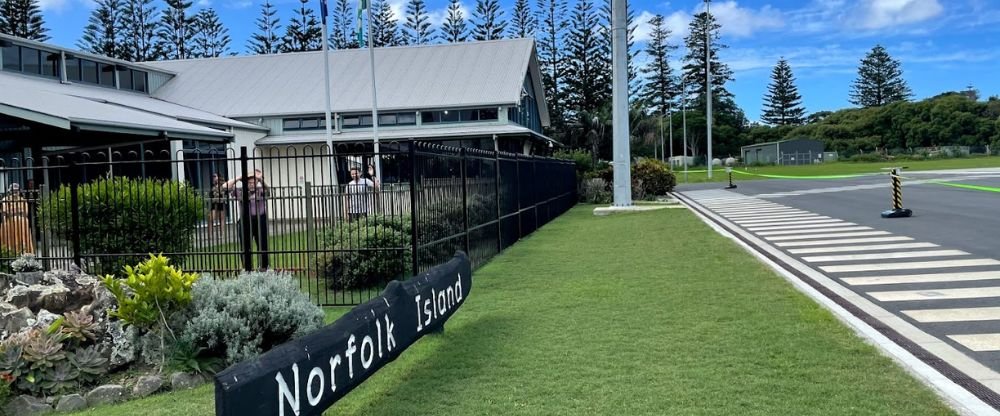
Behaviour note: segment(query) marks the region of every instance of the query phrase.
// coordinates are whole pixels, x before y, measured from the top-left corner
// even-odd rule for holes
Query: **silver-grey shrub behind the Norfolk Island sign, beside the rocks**
[[[195,284],[192,318],[181,339],[227,364],[307,334],[323,324],[323,310],[288,274],[252,272],[235,279],[203,277]]]

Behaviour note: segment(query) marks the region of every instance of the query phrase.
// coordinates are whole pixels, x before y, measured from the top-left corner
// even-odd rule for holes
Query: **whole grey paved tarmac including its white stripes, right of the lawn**
[[[1000,188],[1000,169],[904,176],[903,205],[914,216],[902,219],[879,216],[891,204],[886,175],[678,191],[887,311],[886,321],[912,325],[918,331],[903,331],[911,341],[1000,393],[1000,193],[933,182]]]

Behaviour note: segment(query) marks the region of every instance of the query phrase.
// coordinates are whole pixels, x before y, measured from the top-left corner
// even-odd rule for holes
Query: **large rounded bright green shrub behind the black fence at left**
[[[72,238],[72,188],[63,186],[41,203],[39,220],[64,239]],[[190,186],[158,179],[117,177],[78,187],[80,250],[95,256],[88,265],[96,275],[115,273],[146,253],[184,253],[204,215],[202,197]],[[181,259],[174,254],[174,259]]]

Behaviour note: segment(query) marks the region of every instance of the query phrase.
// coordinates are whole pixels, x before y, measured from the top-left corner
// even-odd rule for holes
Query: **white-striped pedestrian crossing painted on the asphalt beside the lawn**
[[[684,196],[887,310],[905,305],[901,317],[933,332],[944,331],[947,340],[968,351],[994,353],[998,355],[992,359],[1000,359],[1000,260],[762,199],[791,194],[707,190]],[[973,322],[974,331],[962,329]]]

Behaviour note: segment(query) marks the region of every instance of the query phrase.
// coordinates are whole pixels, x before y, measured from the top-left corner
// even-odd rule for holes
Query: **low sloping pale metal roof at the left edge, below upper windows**
[[[177,138],[233,137],[232,133],[128,107],[35,88],[22,77],[0,75],[0,114],[61,129],[143,135],[166,133]],[[58,85],[58,84],[57,84]]]

